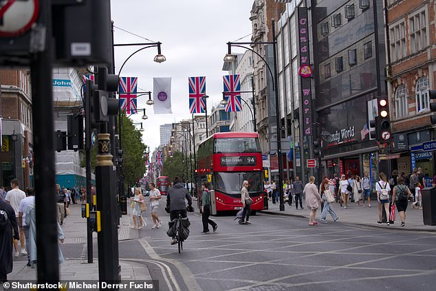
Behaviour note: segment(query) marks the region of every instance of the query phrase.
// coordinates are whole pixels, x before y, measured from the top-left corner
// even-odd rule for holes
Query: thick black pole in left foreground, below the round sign
[[[41,5],[45,47],[30,58],[35,159],[36,249],[38,283],[58,283],[58,222],[54,170],[54,122],[52,89],[52,1]],[[12,248],[12,246],[11,246]]]

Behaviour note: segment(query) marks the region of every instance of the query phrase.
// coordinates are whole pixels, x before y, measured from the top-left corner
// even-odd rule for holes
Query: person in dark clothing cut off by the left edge
[[[0,200],[0,283],[8,281],[12,272],[12,241],[19,239],[14,208],[6,200]]]

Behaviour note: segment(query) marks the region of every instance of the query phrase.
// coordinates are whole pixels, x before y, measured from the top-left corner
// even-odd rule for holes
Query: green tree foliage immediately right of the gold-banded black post
[[[142,133],[135,128],[133,122],[124,113],[122,114],[121,147],[124,151],[122,155],[124,185],[132,185],[142,178],[146,171],[144,158],[142,158],[146,145],[142,143]]]

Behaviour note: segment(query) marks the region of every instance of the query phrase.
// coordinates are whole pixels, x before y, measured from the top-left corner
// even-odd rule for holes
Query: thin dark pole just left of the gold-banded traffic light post
[[[91,208],[93,197],[91,195],[91,86],[94,81],[86,81],[85,91],[85,156],[86,156],[86,202]],[[88,263],[93,262],[92,230],[89,218],[87,219],[87,252]]]

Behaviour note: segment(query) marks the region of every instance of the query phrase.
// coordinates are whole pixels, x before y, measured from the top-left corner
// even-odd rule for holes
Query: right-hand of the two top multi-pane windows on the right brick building
[[[427,47],[426,12],[421,11],[408,19],[409,40],[411,53],[419,52]]]

